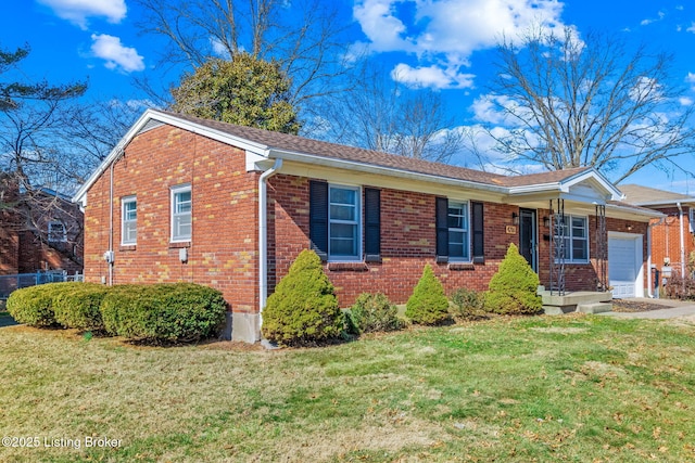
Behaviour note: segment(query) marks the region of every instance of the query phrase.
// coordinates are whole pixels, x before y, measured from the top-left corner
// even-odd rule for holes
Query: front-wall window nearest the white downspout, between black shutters
[[[329,185],[328,198],[328,256],[358,260],[362,256],[359,189]]]

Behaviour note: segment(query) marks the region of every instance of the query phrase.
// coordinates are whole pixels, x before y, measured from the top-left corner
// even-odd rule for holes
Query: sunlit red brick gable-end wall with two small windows
[[[137,136],[114,165],[113,283],[197,282],[224,293],[237,312],[257,310],[257,173],[242,150],[163,126]],[[169,189],[190,183],[192,239],[169,243]],[[137,195],[136,246],[121,245],[121,197]],[[109,169],[87,195],[85,274],[109,276]],[[188,261],[179,248],[188,248]]]

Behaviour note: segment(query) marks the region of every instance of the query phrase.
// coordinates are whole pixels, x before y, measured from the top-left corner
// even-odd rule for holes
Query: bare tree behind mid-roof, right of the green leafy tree
[[[330,138],[369,150],[450,162],[464,133],[441,93],[409,90],[378,69],[363,72],[355,88],[327,111]],[[397,77],[397,76],[396,76]]]

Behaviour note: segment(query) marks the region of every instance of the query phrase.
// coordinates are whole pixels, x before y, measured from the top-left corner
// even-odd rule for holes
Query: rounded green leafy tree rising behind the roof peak
[[[276,62],[249,53],[231,61],[212,59],[186,74],[172,89],[174,111],[191,116],[222,120],[296,134],[301,127],[290,102],[291,80]]]

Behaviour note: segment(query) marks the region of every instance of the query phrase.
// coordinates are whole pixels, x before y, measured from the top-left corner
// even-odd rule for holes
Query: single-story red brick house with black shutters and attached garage
[[[305,248],[343,307],[405,303],[426,263],[448,293],[485,290],[509,243],[548,288],[641,296],[658,213],[621,197],[592,168],[507,177],[150,110],[74,200],[87,281],[212,285],[254,342]]]

